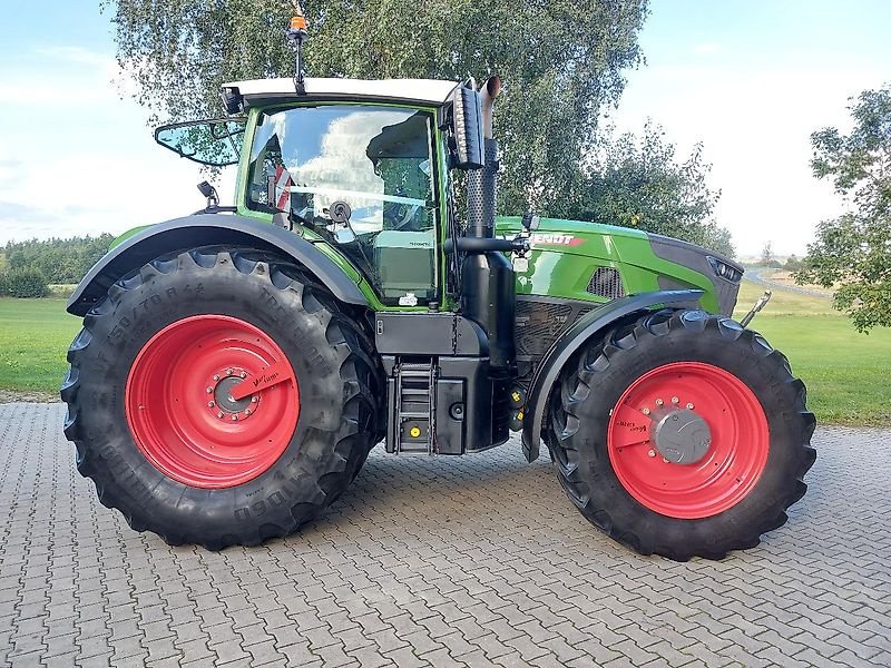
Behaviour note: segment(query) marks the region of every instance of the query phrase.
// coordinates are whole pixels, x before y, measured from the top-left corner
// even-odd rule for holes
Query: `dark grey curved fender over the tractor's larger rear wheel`
[[[245,216],[198,214],[151,225],[111,248],[87,272],[66,310],[84,316],[128,272],[165,253],[207,245],[276,252],[306,267],[341,302],[368,305],[359,286],[333,259],[293,232]]]

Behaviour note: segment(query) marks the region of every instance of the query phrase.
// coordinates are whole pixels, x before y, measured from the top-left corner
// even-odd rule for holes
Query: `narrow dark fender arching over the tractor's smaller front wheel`
[[[639,293],[609,302],[601,308],[578,318],[551,344],[536,369],[529,386],[527,412],[522,425],[522,452],[528,462],[538,459],[541,429],[545,423],[548,397],[567,361],[581,345],[597,336],[615,322],[656,306],[698,307],[701,289],[666,289]]]

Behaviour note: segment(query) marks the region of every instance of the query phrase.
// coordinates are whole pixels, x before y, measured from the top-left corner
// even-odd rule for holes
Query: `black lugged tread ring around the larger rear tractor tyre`
[[[325,336],[332,347],[343,350],[340,365],[340,377],[344,389],[344,413],[337,432],[334,462],[331,470],[322,473],[316,480],[316,493],[307,501],[294,503],[287,520],[260,523],[244,530],[237,530],[233,523],[233,532],[224,536],[202,536],[199,531],[183,527],[159,527],[141,517],[138,508],[131,508],[127,501],[115,494],[114,484],[107,484],[111,475],[107,462],[99,452],[94,451],[90,441],[81,430],[79,420],[82,411],[79,401],[80,360],[91,345],[91,330],[98,318],[114,311],[114,304],[128,291],[136,289],[156,274],[177,271],[180,262],[194,262],[209,271],[221,264],[229,264],[243,274],[262,274],[268,278],[270,285],[278,291],[296,291],[301,294],[304,308],[314,313],[325,326]],[[105,299],[97,303],[84,318],[84,328],[75,337],[68,351],[70,363],[68,373],[61,385],[61,399],[68,406],[65,420],[65,434],[77,449],[77,468],[86,478],[90,478],[102,505],[117,509],[124,514],[128,524],[136,531],[151,530],[167,543],[199,543],[208,550],[243,544],[256,546],[271,538],[278,538],[296,531],[303,524],[320,517],[355,479],[369,452],[376,443],[372,435],[380,434],[379,424],[383,409],[378,397],[382,396],[383,379],[381,362],[374,345],[360,320],[346,311],[329,289],[319,284],[301,266],[285,262],[274,254],[251,248],[200,247],[184,253],[173,253],[156,258],[139,269],[133,271],[117,281],[108,291]],[[363,410],[364,409],[364,410]],[[364,419],[360,419],[364,415]],[[148,465],[148,464],[147,464]]]

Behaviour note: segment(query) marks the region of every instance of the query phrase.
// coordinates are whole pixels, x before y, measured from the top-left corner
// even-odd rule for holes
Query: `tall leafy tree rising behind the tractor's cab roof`
[[[306,2],[307,72],[433,77],[498,72],[503,174],[498,210],[567,199],[598,111],[640,61],[647,0],[315,0]],[[282,0],[106,0],[118,60],[158,117],[218,116],[225,81],[294,75]],[[535,203],[532,203],[535,199]]]

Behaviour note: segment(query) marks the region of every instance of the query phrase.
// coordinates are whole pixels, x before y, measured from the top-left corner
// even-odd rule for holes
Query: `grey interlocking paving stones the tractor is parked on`
[[[598,533],[516,442],[375,450],[295,536],[170,548],[98,503],[62,418],[0,405],[0,665],[891,666],[891,430],[820,429],[784,528],[674,563]]]

